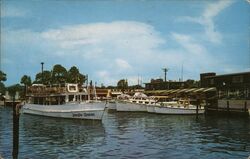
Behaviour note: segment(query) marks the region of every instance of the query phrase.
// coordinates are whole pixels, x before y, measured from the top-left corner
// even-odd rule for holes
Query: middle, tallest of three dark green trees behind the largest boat
[[[60,64],[53,67],[52,70],[52,83],[60,84],[67,81],[67,70]]]

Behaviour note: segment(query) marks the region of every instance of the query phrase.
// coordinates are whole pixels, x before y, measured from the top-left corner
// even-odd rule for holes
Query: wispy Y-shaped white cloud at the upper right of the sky
[[[222,35],[215,27],[214,18],[232,3],[233,1],[231,0],[221,0],[216,3],[211,3],[206,6],[200,17],[184,16],[178,18],[177,21],[189,21],[202,25],[208,40],[212,43],[220,43]]]

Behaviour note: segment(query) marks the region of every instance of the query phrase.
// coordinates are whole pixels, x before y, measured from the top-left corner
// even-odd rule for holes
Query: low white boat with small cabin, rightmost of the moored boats
[[[171,102],[162,102],[155,105],[155,113],[158,114],[203,114],[205,109],[203,106],[190,104],[188,100],[179,100]]]

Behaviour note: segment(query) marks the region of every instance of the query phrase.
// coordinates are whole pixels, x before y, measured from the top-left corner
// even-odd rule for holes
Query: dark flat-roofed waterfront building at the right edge
[[[223,75],[202,73],[200,82],[202,87],[216,87],[218,102],[211,109],[237,112],[250,109],[250,72]]]

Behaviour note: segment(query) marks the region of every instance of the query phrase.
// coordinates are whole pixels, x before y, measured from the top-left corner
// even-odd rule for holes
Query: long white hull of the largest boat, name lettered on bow
[[[105,103],[80,103],[65,105],[25,104],[24,114],[33,114],[57,118],[101,120],[105,111]]]

